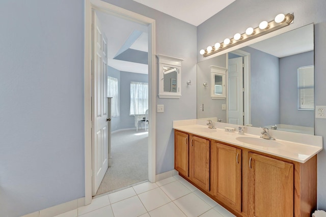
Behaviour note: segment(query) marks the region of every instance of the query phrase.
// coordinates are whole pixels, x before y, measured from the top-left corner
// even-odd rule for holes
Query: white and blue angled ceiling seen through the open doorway
[[[147,26],[96,12],[107,38],[107,65],[119,71],[148,74]]]

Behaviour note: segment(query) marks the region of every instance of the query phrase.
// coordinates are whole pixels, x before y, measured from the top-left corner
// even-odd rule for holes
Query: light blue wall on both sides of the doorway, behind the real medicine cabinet
[[[172,170],[172,121],[196,118],[197,28],[106,2],[155,19],[156,52],[184,59],[181,99],[156,101],[156,173]],[[0,26],[0,215],[18,216],[85,196],[84,1],[3,0]]]

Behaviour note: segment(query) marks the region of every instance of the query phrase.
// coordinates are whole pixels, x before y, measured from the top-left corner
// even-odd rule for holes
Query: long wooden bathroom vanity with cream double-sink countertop
[[[224,130],[236,126],[206,122],[174,121],[179,175],[236,216],[311,216],[322,137],[271,131],[272,141],[259,128],[239,135]]]

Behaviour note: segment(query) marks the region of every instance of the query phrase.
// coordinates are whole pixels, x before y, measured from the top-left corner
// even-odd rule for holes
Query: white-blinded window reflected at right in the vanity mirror
[[[297,69],[298,109],[314,110],[314,66]]]

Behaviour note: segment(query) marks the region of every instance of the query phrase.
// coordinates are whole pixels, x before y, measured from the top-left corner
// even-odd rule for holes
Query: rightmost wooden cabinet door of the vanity
[[[250,216],[293,216],[293,164],[251,152],[248,158]]]

